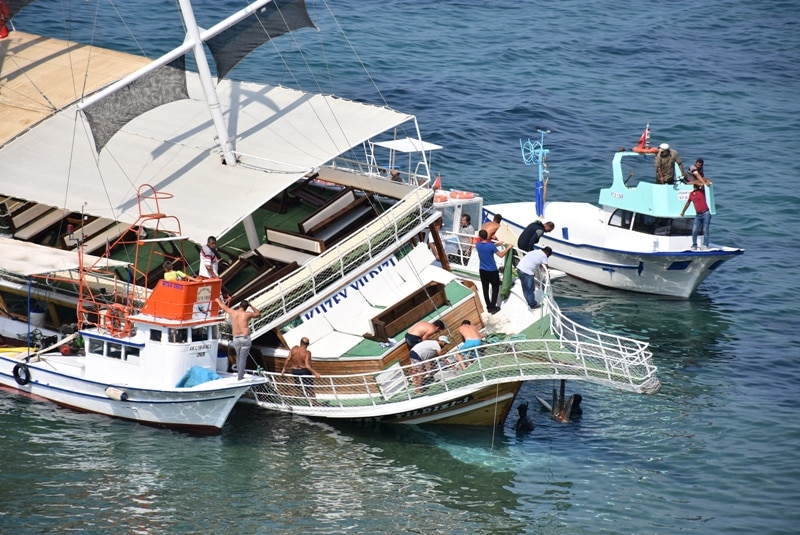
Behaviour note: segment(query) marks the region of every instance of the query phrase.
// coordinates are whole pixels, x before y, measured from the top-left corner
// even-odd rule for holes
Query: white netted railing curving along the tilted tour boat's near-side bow
[[[430,359],[422,365],[395,363],[373,373],[324,375],[320,378],[261,372],[267,383],[253,387],[259,405],[266,408],[313,408],[348,412],[425,398],[444,401],[495,384],[530,380],[571,379],[611,388],[654,394],[660,383],[646,348],[561,340],[504,340]]]

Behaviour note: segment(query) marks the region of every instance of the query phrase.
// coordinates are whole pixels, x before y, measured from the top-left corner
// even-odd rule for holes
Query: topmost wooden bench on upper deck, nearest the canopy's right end
[[[371,194],[359,196],[353,188],[346,188],[297,226],[302,234],[332,245],[338,237],[363,225],[375,214]]]

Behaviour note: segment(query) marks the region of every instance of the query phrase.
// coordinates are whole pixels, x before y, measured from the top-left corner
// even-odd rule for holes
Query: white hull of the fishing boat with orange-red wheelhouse
[[[69,358],[77,357],[63,357],[63,360]],[[88,381],[54,370],[54,367],[63,369],[65,365],[68,364],[53,363],[50,359],[23,363],[19,359],[0,356],[0,385],[83,412],[158,427],[217,433],[239,398],[253,384],[260,382],[247,378],[239,382],[235,377],[228,377],[193,388],[150,390]],[[26,371],[18,366],[25,366]],[[109,387],[116,390],[107,393]],[[120,395],[121,392],[124,396]]]

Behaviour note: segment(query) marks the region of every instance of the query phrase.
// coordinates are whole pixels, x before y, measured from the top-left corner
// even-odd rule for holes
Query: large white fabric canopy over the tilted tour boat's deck
[[[59,56],[51,53],[52,41],[36,69],[46,69],[46,62]],[[23,43],[21,50],[31,54],[36,44]],[[136,66],[141,63],[132,58]],[[100,62],[97,68],[102,67]],[[65,84],[73,90],[71,77],[47,81],[53,87],[39,81],[27,91],[41,98],[39,92],[51,90],[63,98]],[[0,146],[0,193],[130,224],[139,215],[137,188],[150,184],[173,195],[158,211],[177,216],[182,234],[203,243],[312,169],[413,119],[333,96],[223,80],[218,85],[222,112],[242,164],[226,166],[195,74],[188,74],[188,89],[190,100],[129,122],[99,156],[88,123],[74,104],[67,106]],[[25,102],[24,95],[20,99]],[[153,205],[147,209],[156,211]]]

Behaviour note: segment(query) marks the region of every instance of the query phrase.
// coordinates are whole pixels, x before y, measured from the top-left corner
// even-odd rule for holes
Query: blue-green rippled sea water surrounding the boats
[[[95,2],[41,0],[15,22],[151,57],[181,39],[171,3],[102,5],[94,36]],[[197,2],[198,20],[234,5]],[[534,413],[525,437],[513,416],[496,432],[372,429],[241,406],[200,438],[0,392],[0,532],[797,532],[800,4],[308,5],[320,32],[268,44],[231,77],[382,95],[445,146],[445,187],[489,202],[532,195],[519,139],[535,126],[553,131],[549,198],[594,201],[613,151],[649,122],[655,143],[705,159],[713,240],[747,252],[687,301],[560,281],[573,318],[651,342],[663,389],[570,383],[583,418]],[[63,13],[71,24],[54,22]],[[553,386],[528,384],[520,400]]]

